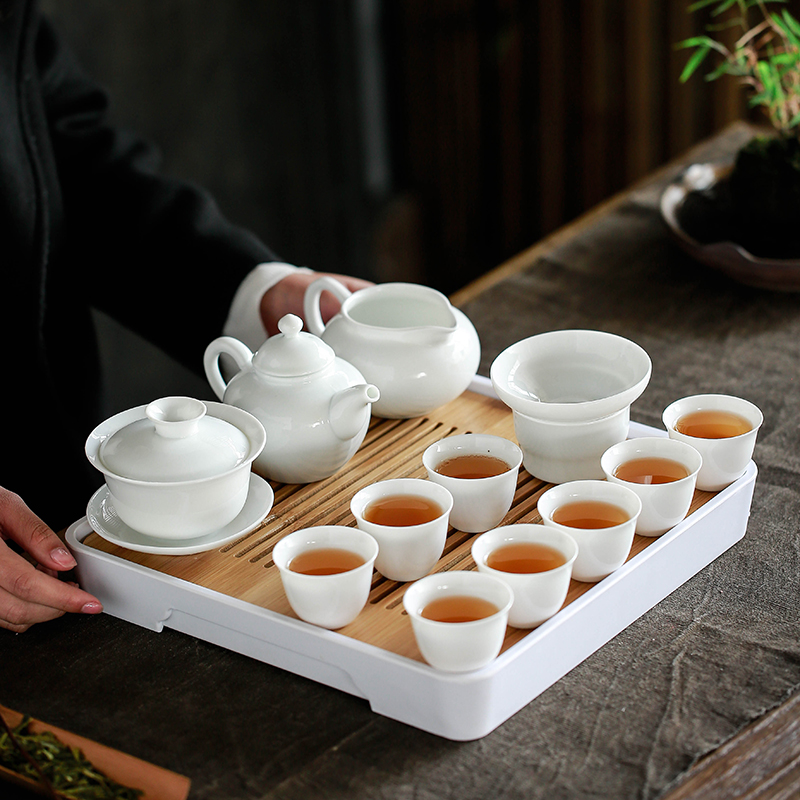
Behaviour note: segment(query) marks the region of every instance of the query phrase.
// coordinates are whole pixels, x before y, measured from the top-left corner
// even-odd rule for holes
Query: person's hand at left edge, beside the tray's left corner
[[[35,563],[6,544],[16,542]],[[98,614],[100,601],[58,573],[75,559],[19,495],[0,486],[0,628],[21,633],[67,611]]]

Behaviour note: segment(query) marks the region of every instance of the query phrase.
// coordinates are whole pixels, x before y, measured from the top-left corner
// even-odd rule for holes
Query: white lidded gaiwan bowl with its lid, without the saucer
[[[265,441],[263,426],[241,409],[163,397],[101,423],[85,449],[126,525],[190,539],[225,527],[244,508]]]

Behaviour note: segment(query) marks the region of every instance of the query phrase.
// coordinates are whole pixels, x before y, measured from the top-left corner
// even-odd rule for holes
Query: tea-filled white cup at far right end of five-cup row
[[[744,474],[764,416],[741,397],[698,394],[667,406],[662,419],[670,438],[690,444],[703,457],[697,488],[718,492]]]

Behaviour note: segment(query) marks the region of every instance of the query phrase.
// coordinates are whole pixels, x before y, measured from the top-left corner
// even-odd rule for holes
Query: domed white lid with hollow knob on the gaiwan
[[[99,461],[122,478],[177,482],[221,475],[245,462],[250,440],[191,397],[163,397],[101,445]]]

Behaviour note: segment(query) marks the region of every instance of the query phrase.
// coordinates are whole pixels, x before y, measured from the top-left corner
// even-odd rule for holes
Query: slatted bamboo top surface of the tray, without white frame
[[[276,542],[292,531],[313,525],[355,526],[350,500],[359,489],[387,478],[426,478],[422,466],[425,448],[442,437],[470,432],[494,433],[513,440],[514,426],[508,407],[496,398],[465,392],[435,415],[412,420],[373,420],[364,443],[343,471],[304,486],[272,482],[275,504],[268,517],[246,536],[218,550],[188,556],[153,555],[126,550],[96,533],[84,541],[118,558],[296,619],[272,562]],[[536,503],[551,485],[520,469],[514,502],[502,524],[541,522]],[[696,491],[690,513],[713,496],[710,492]],[[451,528],[442,558],[432,571],[476,569],[470,548],[477,536]],[[629,560],[655,541],[635,536]],[[593,586],[571,581],[565,606]],[[405,588],[404,583],[374,573],[366,607],[354,622],[338,632],[423,661],[403,609]],[[530,632],[509,627],[503,651]]]

